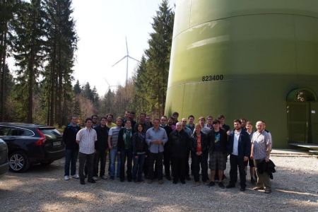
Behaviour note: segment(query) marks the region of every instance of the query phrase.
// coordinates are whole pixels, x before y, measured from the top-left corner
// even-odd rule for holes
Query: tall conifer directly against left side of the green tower
[[[134,77],[134,108],[137,112],[163,114],[165,110],[174,17],[168,2],[163,0],[153,18],[149,47]]]

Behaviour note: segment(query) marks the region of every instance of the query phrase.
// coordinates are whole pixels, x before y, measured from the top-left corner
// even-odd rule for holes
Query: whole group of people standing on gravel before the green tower
[[[93,115],[85,120],[83,129],[78,126],[77,117],[72,117],[63,134],[66,144],[64,179],[69,180],[70,176],[79,178],[81,184],[86,183],[86,177],[90,183],[107,179],[105,171],[109,153],[110,179],[119,177],[121,182],[126,179],[139,183],[145,177],[148,183],[158,179],[158,183],[163,184],[164,166],[165,178],[174,184],[185,184],[191,179],[190,174],[194,176],[194,182],[200,184],[201,170],[202,182],[213,187],[218,181],[218,186],[225,188],[224,170],[230,155],[230,182],[226,188],[235,187],[238,169],[240,190],[244,192],[249,165],[251,182],[257,182],[254,189],[271,193],[269,175],[258,169],[259,164],[269,162],[271,152],[271,134],[266,131],[264,121],[257,122],[257,130],[253,131],[251,122],[235,119],[231,131],[224,123],[223,115],[217,119],[199,117],[197,124],[194,124],[193,115],[182,118],[180,122],[178,117],[179,114],[174,112],[172,117],[163,115],[151,122],[149,116],[141,113],[139,122],[136,122],[135,113],[126,111],[124,117],[117,117],[115,123],[112,114],[101,117],[98,123],[98,116]],[[211,170],[210,179],[208,168]]]

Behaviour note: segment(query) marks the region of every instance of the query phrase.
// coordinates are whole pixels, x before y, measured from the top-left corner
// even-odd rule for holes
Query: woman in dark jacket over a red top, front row
[[[208,181],[208,137],[201,132],[201,125],[194,126],[191,143],[192,164],[194,168],[194,182],[199,184],[199,170],[201,165],[202,182]]]

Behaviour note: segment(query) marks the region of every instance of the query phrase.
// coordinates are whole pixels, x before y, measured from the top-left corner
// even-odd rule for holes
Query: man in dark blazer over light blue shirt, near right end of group
[[[245,191],[246,175],[244,162],[249,160],[251,153],[251,140],[249,134],[242,129],[239,119],[234,120],[234,130],[230,133],[228,143],[228,153],[230,154],[230,183],[227,188],[235,187],[237,182],[237,167],[240,172],[241,192]]]

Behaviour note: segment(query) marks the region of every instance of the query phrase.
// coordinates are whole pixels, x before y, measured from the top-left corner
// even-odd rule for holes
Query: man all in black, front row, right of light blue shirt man
[[[181,122],[177,122],[176,130],[172,131],[169,135],[169,149],[171,153],[172,161],[172,176],[173,183],[177,184],[178,180],[182,184],[185,184],[185,161],[186,153],[189,150],[190,146],[190,137],[182,129]]]

